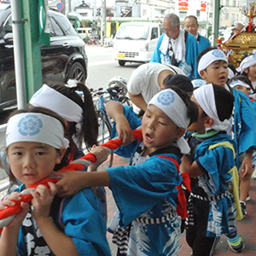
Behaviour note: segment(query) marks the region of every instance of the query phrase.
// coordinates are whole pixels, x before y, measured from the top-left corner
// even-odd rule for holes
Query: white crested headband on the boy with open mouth
[[[187,117],[188,108],[174,90],[161,90],[148,102],[148,106],[151,104],[166,113],[178,127],[188,128],[190,122]],[[189,144],[183,137],[177,139],[177,146],[183,154],[188,154],[190,151]]]

